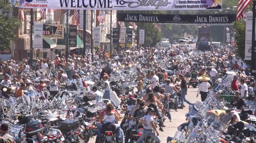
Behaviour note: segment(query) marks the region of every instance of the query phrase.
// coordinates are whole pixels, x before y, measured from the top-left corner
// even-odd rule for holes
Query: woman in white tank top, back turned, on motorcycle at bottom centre
[[[99,116],[99,121],[102,121],[102,124],[105,123],[112,123],[115,124],[115,121],[120,121],[119,116],[116,114],[116,112],[113,112],[114,106],[113,104],[108,104],[107,109],[105,110],[105,112],[103,112],[100,116]],[[99,124],[98,127],[98,132],[97,132],[97,137],[96,137],[96,142],[95,143],[99,143],[101,142],[101,137],[102,137],[102,124]],[[115,124],[116,125],[116,141],[117,143],[121,143],[122,139],[122,135],[121,135],[121,128],[119,124]]]

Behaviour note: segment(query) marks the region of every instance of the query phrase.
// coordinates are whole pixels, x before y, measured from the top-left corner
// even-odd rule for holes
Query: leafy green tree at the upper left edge
[[[9,50],[14,40],[14,30],[20,25],[17,17],[12,17],[12,4],[0,0],[0,51]]]

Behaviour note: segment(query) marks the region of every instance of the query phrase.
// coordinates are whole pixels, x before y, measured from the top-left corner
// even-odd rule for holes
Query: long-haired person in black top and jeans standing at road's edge
[[[180,105],[180,109],[183,109],[184,106],[184,101],[189,104],[192,105],[191,102],[189,102],[188,100],[186,100],[185,95],[187,95],[187,90],[188,90],[188,86],[186,84],[186,80],[184,79],[183,75],[179,75],[179,79],[181,80],[180,83],[180,101],[181,101],[181,105]]]

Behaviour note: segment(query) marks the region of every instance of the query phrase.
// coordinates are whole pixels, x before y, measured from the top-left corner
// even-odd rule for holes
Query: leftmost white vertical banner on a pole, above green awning
[[[34,49],[43,49],[43,23],[34,24]]]

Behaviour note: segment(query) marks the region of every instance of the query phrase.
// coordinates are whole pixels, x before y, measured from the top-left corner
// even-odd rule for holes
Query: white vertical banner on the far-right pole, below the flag
[[[251,60],[252,57],[252,31],[253,31],[253,13],[245,13],[245,46],[244,60]]]

